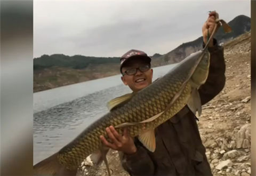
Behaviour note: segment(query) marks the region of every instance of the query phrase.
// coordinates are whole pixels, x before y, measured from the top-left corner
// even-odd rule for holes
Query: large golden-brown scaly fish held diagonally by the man
[[[219,21],[221,20],[217,22]],[[221,22],[227,25],[225,21]],[[207,79],[209,65],[210,53],[206,44],[203,50],[189,55],[145,89],[111,100],[108,114],[87,127],[58,153],[37,163],[34,166],[35,175],[54,175],[63,167],[76,170],[90,154],[95,161],[100,161],[101,158],[107,165],[108,149],[102,146],[99,137],[104,135],[108,139],[106,127],[110,125],[115,126],[118,133],[122,133],[126,127],[132,137],[138,137],[148,150],[154,152],[154,129],[157,126],[186,105],[194,113],[198,111],[201,114],[201,101],[197,90]],[[109,169],[108,174],[110,175]]]

